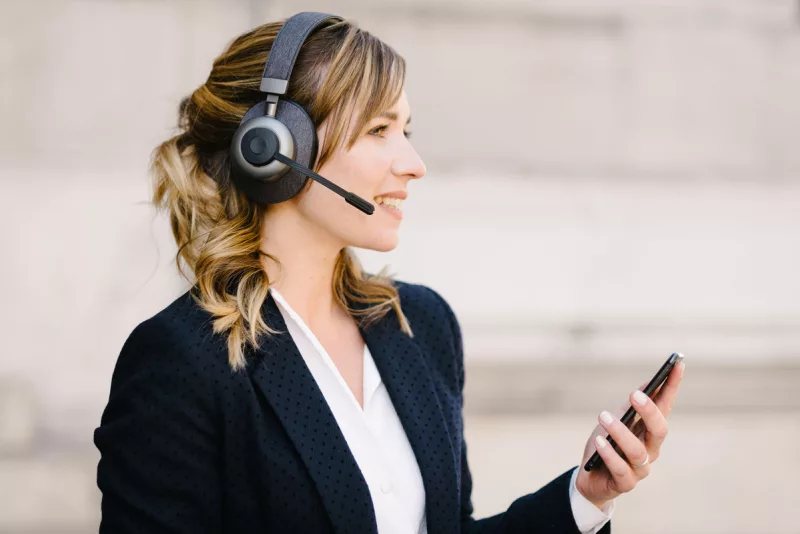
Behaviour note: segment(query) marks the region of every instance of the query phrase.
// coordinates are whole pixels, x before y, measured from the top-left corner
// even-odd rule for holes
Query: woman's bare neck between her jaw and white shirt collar
[[[342,310],[333,300],[333,270],[344,245],[287,203],[269,207],[261,225],[261,264],[309,328],[331,324]]]

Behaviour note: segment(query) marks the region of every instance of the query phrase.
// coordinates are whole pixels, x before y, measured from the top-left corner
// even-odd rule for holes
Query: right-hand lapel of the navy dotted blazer
[[[400,331],[394,312],[361,335],[422,473],[428,532],[460,532],[456,455],[422,349]]]

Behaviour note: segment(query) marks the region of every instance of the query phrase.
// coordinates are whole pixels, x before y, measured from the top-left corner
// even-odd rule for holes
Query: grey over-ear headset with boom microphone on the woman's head
[[[328,13],[298,13],[286,20],[275,37],[261,77],[260,90],[267,98],[247,110],[229,149],[233,182],[254,202],[289,200],[312,178],[367,215],[375,211],[370,202],[309,168],[317,157],[317,130],[303,106],[282,98],[308,36],[342,20]]]

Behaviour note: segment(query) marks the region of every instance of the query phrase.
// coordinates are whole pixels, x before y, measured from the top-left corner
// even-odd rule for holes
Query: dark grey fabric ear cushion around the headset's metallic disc
[[[264,115],[266,102],[261,101],[245,113],[240,124],[254,117]],[[294,137],[294,160],[306,168],[311,168],[317,157],[317,129],[306,110],[300,104],[287,99],[278,101],[275,118],[289,128]],[[276,204],[289,200],[299,193],[310,178],[289,169],[279,178],[263,182],[244,175],[234,173],[234,183],[241,189],[247,198],[259,204]]]

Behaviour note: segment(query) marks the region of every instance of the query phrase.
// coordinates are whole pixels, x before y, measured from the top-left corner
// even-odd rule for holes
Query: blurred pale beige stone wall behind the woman
[[[408,62],[428,174],[398,248],[359,253],[456,311],[475,516],[578,464],[680,351],[614,532],[800,533],[796,0],[0,5],[0,532],[97,531],[116,358],[187,287],[150,151],[230,40],[318,10]]]

